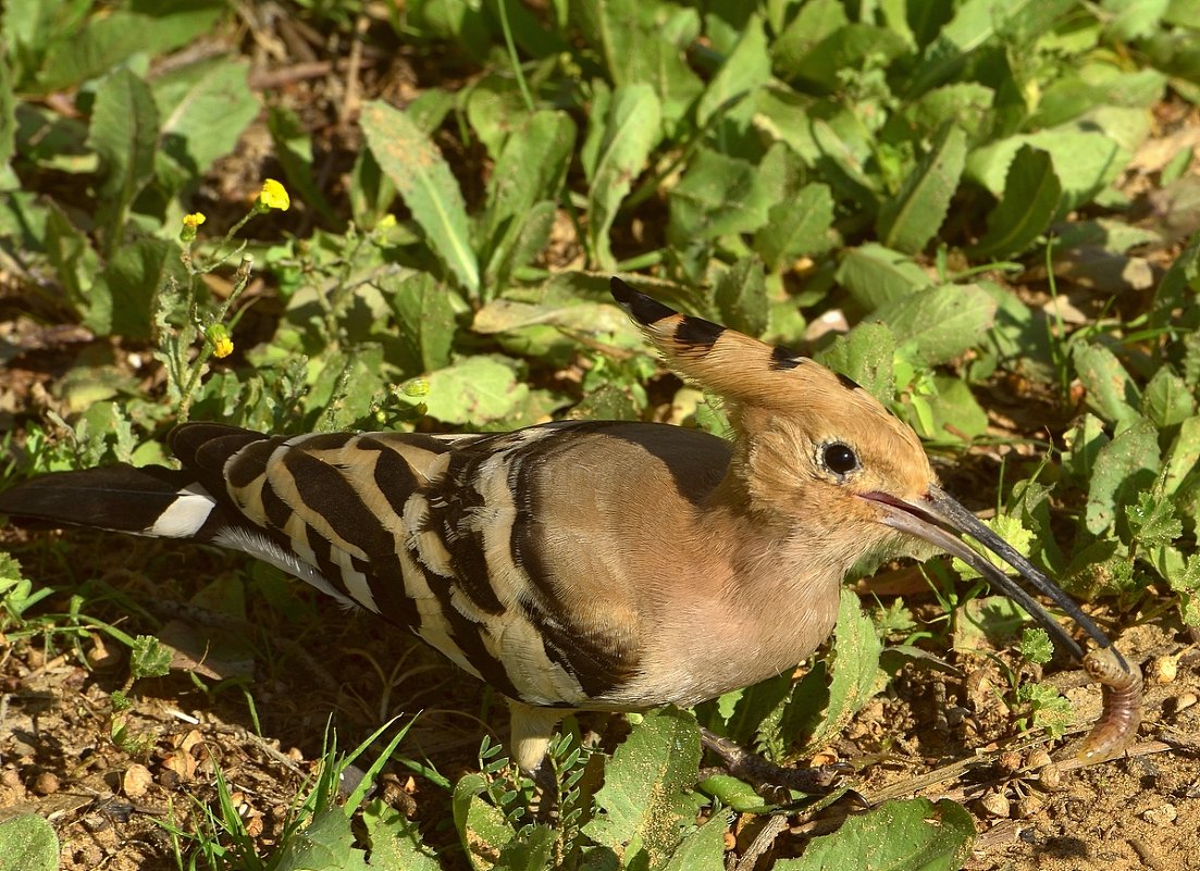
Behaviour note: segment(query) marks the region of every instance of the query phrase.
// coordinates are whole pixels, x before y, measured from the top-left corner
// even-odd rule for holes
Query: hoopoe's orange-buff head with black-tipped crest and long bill
[[[905,540],[950,553],[1081,660],[1072,635],[965,541],[973,539],[1099,647],[1110,645],[1057,584],[942,488],[912,427],[853,380],[786,348],[680,314],[619,278],[611,287],[672,368],[724,401],[734,427],[730,475],[766,522],[816,525],[830,546],[858,554],[894,552]]]

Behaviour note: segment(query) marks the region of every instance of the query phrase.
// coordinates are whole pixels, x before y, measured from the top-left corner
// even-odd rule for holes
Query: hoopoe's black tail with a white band
[[[188,471],[109,465],[30,479],[0,493],[0,513],[29,527],[94,527],[209,540],[224,524],[216,500]]]

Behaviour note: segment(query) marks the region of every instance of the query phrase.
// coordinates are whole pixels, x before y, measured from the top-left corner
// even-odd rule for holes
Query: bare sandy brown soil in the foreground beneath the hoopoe
[[[286,617],[274,584],[266,596],[248,594],[242,623],[228,615],[230,589],[238,599],[253,578],[232,559],[158,542],[114,547],[102,534],[73,533],[73,564],[55,566],[48,535],[59,534],[5,530],[0,543],[40,583],[88,578],[84,613],[130,633],[157,631],[182,650],[169,677],[136,686],[127,734],[144,746],[127,752],[110,738],[108,701],[128,673],[121,645],[95,630],[67,637],[61,620],[59,635],[6,639],[0,818],[50,819],[65,871],[176,867],[169,829],[203,824],[198,803],[214,800],[212,762],[269,849],[316,770],[330,715],[340,745],[349,747],[390,716],[424,711],[400,753],[451,780],[475,765],[485,731],[504,738],[504,711],[480,684],[300,584],[282,588],[293,597]],[[40,611],[67,611],[64,590]],[[136,613],[143,608],[149,613]],[[979,833],[972,871],[1200,867],[1200,651],[1157,624],[1124,631],[1120,644],[1147,674],[1145,722],[1126,758],[1078,767],[1080,734],[1022,739],[997,698],[1004,678],[996,660],[962,655],[950,671],[905,666],[821,761],[859,769],[850,781],[872,803],[910,795],[965,803]],[[1080,729],[1097,716],[1099,687],[1082,672],[1048,668],[1045,678],[1075,704]],[[612,723],[586,719],[584,726],[605,732],[610,745],[617,740]],[[1052,770],[1032,756],[1040,750],[1057,761]],[[444,789],[394,764],[378,794],[415,815],[430,843],[449,849],[446,867],[464,867]],[[839,817],[790,822],[775,855],[796,854]],[[739,848],[755,834],[755,818],[743,818]]]

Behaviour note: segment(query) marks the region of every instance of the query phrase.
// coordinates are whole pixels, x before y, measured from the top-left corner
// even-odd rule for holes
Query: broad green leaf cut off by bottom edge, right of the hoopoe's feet
[[[888,801],[846,819],[832,835],[814,837],[799,859],[775,871],[958,871],[971,857],[974,823],[961,805],[941,799]]]

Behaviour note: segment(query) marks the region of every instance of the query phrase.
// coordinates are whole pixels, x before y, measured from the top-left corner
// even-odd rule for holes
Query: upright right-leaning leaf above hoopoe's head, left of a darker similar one
[[[946,220],[966,156],[967,136],[962,128],[943,127],[900,192],[880,206],[875,232],[886,247],[910,254],[925,247]]]

